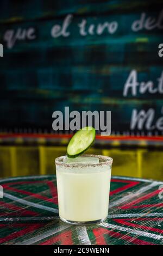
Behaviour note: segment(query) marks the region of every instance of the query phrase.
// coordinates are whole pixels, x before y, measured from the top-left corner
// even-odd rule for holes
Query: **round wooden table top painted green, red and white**
[[[163,244],[163,182],[112,176],[108,219],[86,227],[60,221],[54,175],[0,185],[1,245]]]

